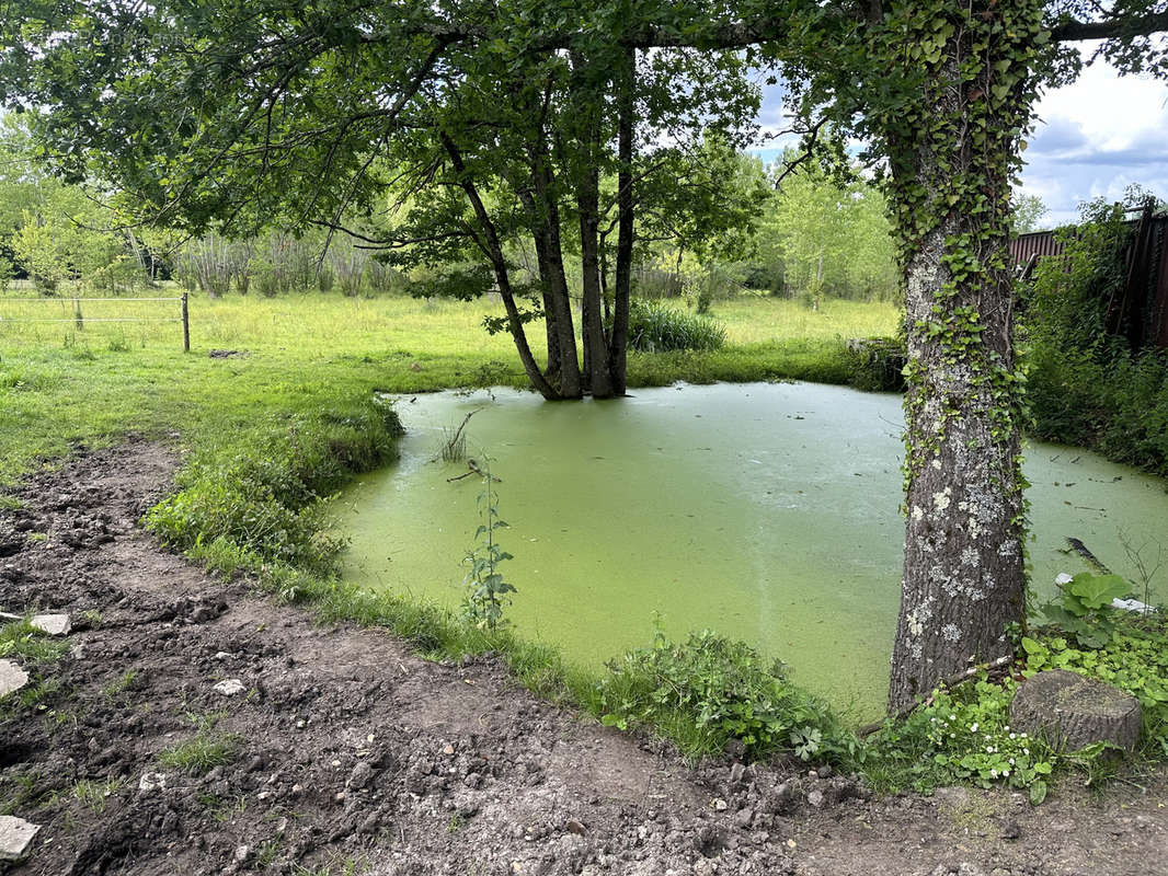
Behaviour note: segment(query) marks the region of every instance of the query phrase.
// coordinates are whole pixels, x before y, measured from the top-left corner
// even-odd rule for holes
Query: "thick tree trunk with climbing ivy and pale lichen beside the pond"
[[[916,18],[922,99],[884,127],[909,345],[892,711],[1008,654],[1006,630],[1023,619],[1023,405],[1007,242],[1036,12],[978,4]]]

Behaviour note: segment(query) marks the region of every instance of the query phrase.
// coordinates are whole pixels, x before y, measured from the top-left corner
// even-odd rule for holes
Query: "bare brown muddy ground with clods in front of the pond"
[[[174,465],[131,443],[0,512],[0,610],[76,624],[48,673],[61,690],[0,712],[0,811],[42,826],[13,872],[1168,874],[1162,772],[1031,809],[1004,792],[876,799],[781,764],[690,770],[491,661],[320,627],[135,529]],[[231,679],[239,693],[214,689]],[[164,766],[199,719],[202,738],[232,735],[229,763]]]

